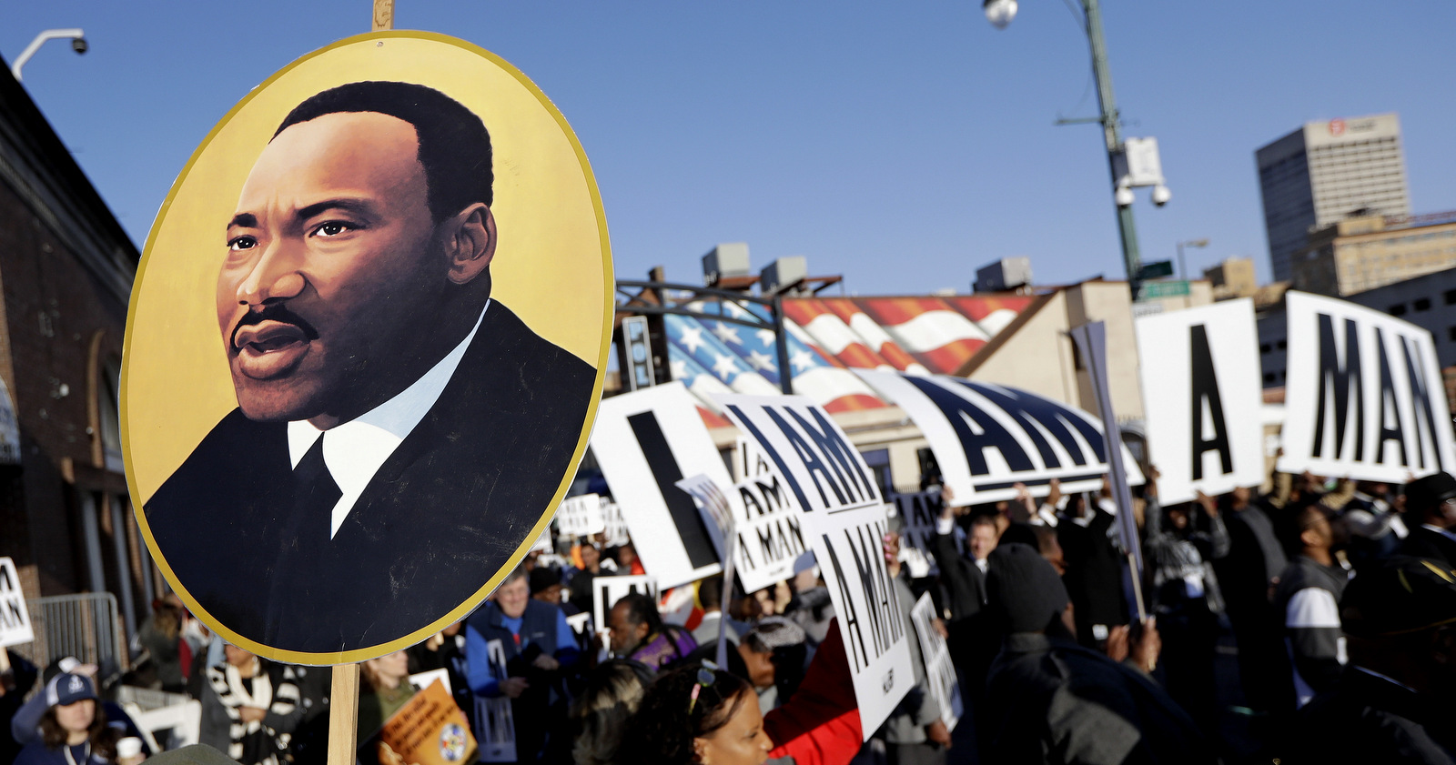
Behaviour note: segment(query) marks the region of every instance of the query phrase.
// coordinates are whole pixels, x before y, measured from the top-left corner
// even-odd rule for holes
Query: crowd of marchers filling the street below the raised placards
[[[1142,576],[1107,487],[1048,490],[955,506],[929,486],[943,510],[923,576],[885,540],[906,633],[923,593],[941,617],[954,732],[910,640],[916,686],[863,736],[817,569],[753,593],[705,579],[690,606],[681,590],[630,593],[591,625],[593,582],[642,569],[630,545],[581,538],[531,553],[462,622],[364,662],[360,759],[383,761],[376,734],[421,691],[412,678],[444,670],[475,737],[517,762],[1453,762],[1456,477],[1275,474],[1270,492],[1165,506],[1150,470],[1133,508]],[[175,596],[137,647],[153,688],[201,702],[202,743],[243,765],[323,762],[329,668],[226,644]],[[137,733],[102,701],[115,678],[74,659],[10,665],[0,765],[150,753],[118,752]]]

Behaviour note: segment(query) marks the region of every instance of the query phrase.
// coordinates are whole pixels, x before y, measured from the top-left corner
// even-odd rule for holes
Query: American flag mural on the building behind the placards
[[[1029,295],[785,298],[794,391],[827,412],[888,406],[850,368],[955,374],[987,340],[1034,301]],[[697,301],[689,308],[769,320],[760,305]],[[668,364],[716,426],[712,393],[779,393],[772,330],[729,321],[665,316]]]

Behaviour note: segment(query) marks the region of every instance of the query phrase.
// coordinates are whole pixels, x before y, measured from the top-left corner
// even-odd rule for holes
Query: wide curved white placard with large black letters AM
[[[925,433],[941,477],[957,506],[1013,499],[1013,484],[1045,496],[1051,478],[1061,490],[1093,492],[1108,473],[1102,423],[1051,398],[960,377],[917,377],[855,369],[894,401]],[[1128,480],[1143,474],[1124,446]]]

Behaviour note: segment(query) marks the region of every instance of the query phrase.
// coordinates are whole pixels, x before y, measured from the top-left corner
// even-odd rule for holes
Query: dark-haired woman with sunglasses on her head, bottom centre
[[[617,762],[763,765],[772,748],[753,688],[703,660],[648,688]]]

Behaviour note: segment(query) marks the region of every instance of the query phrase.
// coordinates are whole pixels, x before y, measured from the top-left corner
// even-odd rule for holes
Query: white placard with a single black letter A
[[[1171,505],[1262,483],[1254,301],[1144,316],[1136,326],[1158,497]]]

